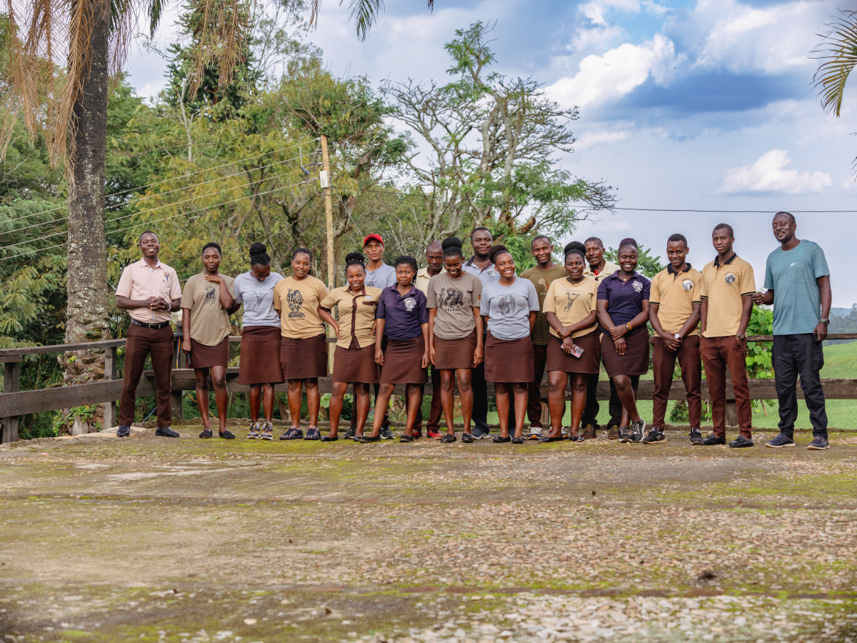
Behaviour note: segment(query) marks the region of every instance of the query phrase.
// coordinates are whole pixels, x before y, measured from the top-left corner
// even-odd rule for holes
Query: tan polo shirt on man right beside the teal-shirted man
[[[719,257],[718,257],[719,259]],[[702,298],[708,299],[704,337],[728,337],[738,333],[743,297],[756,291],[752,266],[738,255],[722,264],[717,259],[702,269]]]

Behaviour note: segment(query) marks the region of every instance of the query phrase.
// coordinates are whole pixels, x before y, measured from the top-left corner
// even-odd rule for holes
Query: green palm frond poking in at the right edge
[[[813,56],[824,61],[812,76],[824,111],[837,117],[842,110],[842,98],[848,75],[857,65],[857,11],[840,10],[836,21],[828,23],[830,31],[819,34],[822,41],[812,50]]]

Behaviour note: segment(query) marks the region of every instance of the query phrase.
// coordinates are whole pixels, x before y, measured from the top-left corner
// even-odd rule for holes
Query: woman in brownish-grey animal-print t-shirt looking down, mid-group
[[[452,426],[452,388],[458,377],[461,415],[464,419],[462,442],[473,442],[470,418],[473,415],[472,370],[482,362],[482,317],[479,297],[482,282],[462,270],[464,253],[461,240],[448,237],[443,247],[446,273],[428,282],[428,356],[440,371],[440,406],[446,418],[446,436],[440,442],[455,442]]]

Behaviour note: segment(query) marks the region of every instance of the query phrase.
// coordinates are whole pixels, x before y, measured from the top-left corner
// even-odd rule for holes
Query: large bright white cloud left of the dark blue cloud
[[[547,91],[561,105],[584,107],[631,93],[650,75],[658,83],[668,81],[675,64],[672,41],[657,34],[643,45],[625,43],[602,56],[585,57],[577,74],[561,78]]]

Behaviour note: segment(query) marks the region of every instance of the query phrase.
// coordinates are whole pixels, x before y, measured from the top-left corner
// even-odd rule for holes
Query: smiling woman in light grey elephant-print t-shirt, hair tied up
[[[499,281],[482,291],[480,313],[488,324],[485,340],[485,379],[494,382],[500,435],[494,442],[524,443],[524,415],[530,398],[527,385],[535,372],[530,340],[538,314],[538,294],[530,279],[515,276],[515,260],[505,245],[494,245],[488,253]],[[515,435],[509,437],[509,405],[515,394]]]

